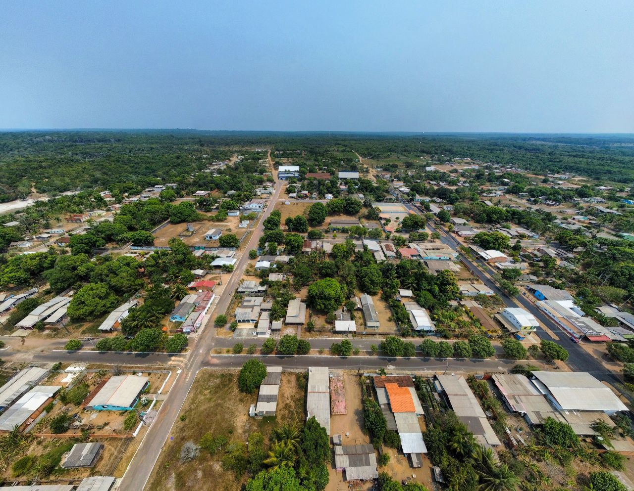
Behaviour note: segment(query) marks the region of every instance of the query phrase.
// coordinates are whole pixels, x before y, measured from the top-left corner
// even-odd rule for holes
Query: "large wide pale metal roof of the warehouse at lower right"
[[[560,411],[601,411],[614,414],[628,407],[590,373],[536,371],[533,383]]]

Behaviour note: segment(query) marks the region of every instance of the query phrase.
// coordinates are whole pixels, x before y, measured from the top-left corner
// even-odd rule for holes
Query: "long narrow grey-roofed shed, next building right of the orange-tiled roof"
[[[462,375],[437,375],[436,388],[445,395],[458,419],[467,425],[481,444],[501,445],[500,438],[491,428],[491,423]]]

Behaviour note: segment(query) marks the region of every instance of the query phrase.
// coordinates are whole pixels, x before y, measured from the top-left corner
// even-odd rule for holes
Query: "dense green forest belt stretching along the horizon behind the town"
[[[282,157],[306,151],[315,159],[353,151],[368,158],[418,155],[470,157],[533,171],[572,171],[634,183],[631,135],[366,134],[206,132],[193,130],[38,131],[0,134],[0,202],[117,186],[122,192],[155,179],[175,181],[226,159],[231,148],[275,147]]]

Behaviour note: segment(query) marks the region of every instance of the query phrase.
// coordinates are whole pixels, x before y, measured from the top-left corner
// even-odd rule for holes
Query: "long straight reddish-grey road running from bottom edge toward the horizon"
[[[277,172],[273,168],[273,161],[271,161],[271,152],[269,151],[269,163],[271,170],[275,177],[275,193],[269,199],[264,213],[262,213],[261,220],[252,233],[249,242],[246,244],[244,251],[250,249],[256,249],[257,243],[262,236],[263,227],[262,223],[268,218],[275,204],[280,197],[281,181],[277,179]],[[213,307],[214,313],[221,314],[228,308],[233,292],[240,284],[240,279],[244,273],[245,268],[249,263],[249,254],[243,253],[235,264],[233,274],[226,282],[223,293],[217,300],[216,306]],[[150,426],[148,433],[143,438],[143,442],[138,449],[136,456],[127,468],[126,474],[123,477],[120,491],[140,491],[145,488],[145,485],[152,473],[152,468],[159,458],[160,451],[165,444],[165,441],[169,437],[169,433],[174,425],[174,421],[178,417],[178,414],[183,406],[183,402],[190,391],[191,385],[196,378],[198,370],[208,363],[209,353],[214,347],[216,337],[214,336],[213,320],[216,315],[209,316],[207,326],[198,338],[198,340],[190,348],[188,357],[183,363],[183,373],[179,375],[179,378],[174,383],[173,387],[167,394],[167,399],[163,404],[161,411],[157,415],[156,420]],[[158,357],[158,356],[157,356]],[[94,361],[93,361],[94,363]]]

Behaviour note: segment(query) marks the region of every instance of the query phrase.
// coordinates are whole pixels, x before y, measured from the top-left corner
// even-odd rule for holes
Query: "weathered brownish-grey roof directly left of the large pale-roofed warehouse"
[[[500,391],[508,409],[513,413],[522,414],[530,425],[541,425],[546,418],[566,421],[526,376],[500,373],[493,375],[493,383]]]

